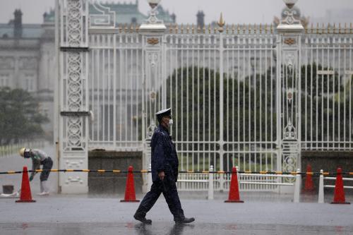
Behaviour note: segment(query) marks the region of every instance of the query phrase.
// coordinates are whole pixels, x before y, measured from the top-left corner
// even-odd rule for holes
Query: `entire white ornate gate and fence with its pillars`
[[[58,1],[60,167],[84,169],[88,150],[106,149],[143,151],[147,169],[166,107],[181,170],[295,171],[303,148],[352,150],[352,29],[304,29],[291,11],[277,28],[222,17],[165,27],[153,11],[143,25],[116,25],[104,4]],[[61,174],[63,192],[87,185]]]

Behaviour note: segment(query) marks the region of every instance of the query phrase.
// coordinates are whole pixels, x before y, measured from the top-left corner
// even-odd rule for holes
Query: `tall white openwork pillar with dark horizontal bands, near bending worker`
[[[88,169],[88,1],[59,0],[59,168]],[[59,174],[61,193],[88,193],[88,174]]]

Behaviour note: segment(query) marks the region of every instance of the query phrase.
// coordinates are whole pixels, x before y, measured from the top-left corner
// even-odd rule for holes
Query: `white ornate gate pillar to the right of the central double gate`
[[[294,18],[297,0],[285,1],[289,10],[277,26],[277,140],[282,155],[282,171],[296,171],[300,164],[301,132],[301,33],[304,28]],[[277,164],[280,164],[277,163]]]

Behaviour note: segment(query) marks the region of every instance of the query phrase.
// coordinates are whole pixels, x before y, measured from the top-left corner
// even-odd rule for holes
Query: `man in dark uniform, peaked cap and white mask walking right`
[[[152,220],[146,219],[146,213],[155,205],[155,202],[163,193],[165,200],[174,221],[176,223],[191,223],[194,218],[186,218],[181,209],[179,195],[177,191],[178,177],[178,156],[172,137],[169,135],[168,128],[172,126],[172,109],[164,109],[155,114],[160,123],[152,135],[152,186],[145,195],[140,206],[133,217],[144,224],[151,224]]]

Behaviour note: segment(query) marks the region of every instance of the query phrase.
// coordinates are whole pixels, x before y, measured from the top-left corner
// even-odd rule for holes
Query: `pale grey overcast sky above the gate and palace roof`
[[[131,1],[135,0],[126,0]],[[217,20],[220,12],[229,24],[271,23],[273,16],[279,16],[284,6],[282,0],[162,0],[161,3],[164,8],[177,15],[178,23],[196,23],[198,10],[205,12],[205,23]],[[326,16],[328,9],[353,11],[353,0],[299,0],[297,6],[304,16],[322,18]],[[8,20],[13,18],[15,8],[23,11],[23,23],[42,23],[42,14],[49,11],[49,8],[54,8],[54,0],[0,0],[0,23],[8,23]],[[147,1],[139,0],[139,8],[141,12],[147,13],[149,8]],[[340,20],[330,19],[331,23],[338,21]],[[345,21],[353,23],[353,14],[348,20],[346,16]]]

